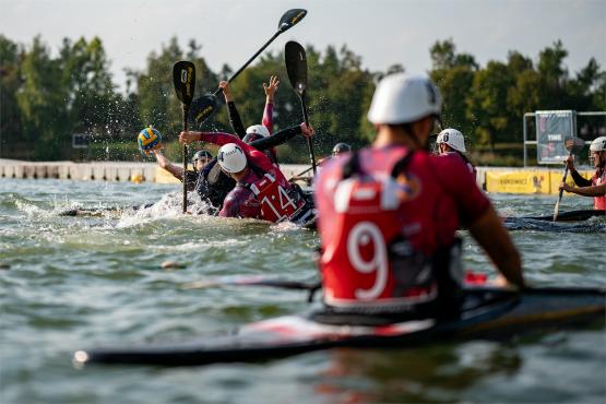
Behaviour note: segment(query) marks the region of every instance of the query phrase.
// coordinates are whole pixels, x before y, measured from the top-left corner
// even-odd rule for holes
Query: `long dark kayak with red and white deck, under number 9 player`
[[[334,314],[316,307],[302,314],[253,322],[179,344],[95,348],[73,354],[76,367],[90,364],[202,366],[283,358],[319,349],[406,348],[476,338],[508,340],[527,332],[580,325],[604,326],[606,289],[466,288],[460,316],[438,321],[394,321],[360,314]]]

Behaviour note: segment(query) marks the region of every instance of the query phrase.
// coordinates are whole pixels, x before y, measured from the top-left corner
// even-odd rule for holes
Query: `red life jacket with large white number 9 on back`
[[[324,302],[332,310],[405,312],[455,299],[451,297],[463,281],[460,240],[427,256],[405,236],[411,224],[404,213],[413,190],[396,178],[406,176],[413,152],[402,155],[394,157],[401,158],[391,175],[365,173],[357,153],[343,166],[330,218],[336,237],[323,246],[320,259]]]

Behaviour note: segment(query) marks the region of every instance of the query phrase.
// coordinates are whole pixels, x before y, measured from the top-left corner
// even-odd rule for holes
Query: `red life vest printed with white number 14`
[[[265,173],[260,180],[251,183],[250,190],[261,203],[261,218],[277,223],[289,221],[306,210],[306,202],[287,181],[277,181]]]

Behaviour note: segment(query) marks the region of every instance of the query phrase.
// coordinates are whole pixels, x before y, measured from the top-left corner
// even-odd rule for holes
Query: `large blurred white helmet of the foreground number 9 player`
[[[426,76],[404,73],[385,76],[375,91],[368,110],[372,123],[408,123],[429,115],[440,115],[440,91]]]

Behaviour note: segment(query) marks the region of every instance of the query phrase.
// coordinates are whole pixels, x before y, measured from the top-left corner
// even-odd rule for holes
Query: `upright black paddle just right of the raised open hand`
[[[297,92],[301,102],[301,109],[304,114],[305,123],[309,127],[309,116],[307,112],[307,104],[305,95],[307,91],[307,56],[304,47],[294,40],[286,43],[284,48],[284,59],[286,62],[286,71],[290,85]],[[309,158],[311,161],[311,168],[316,175],[316,156],[313,155],[313,145],[311,138],[307,138],[307,145],[309,147]]]

